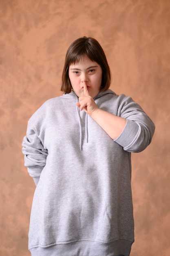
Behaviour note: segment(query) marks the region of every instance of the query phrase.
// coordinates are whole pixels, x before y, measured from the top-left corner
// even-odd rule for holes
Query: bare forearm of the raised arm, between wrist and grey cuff
[[[112,139],[117,139],[126,125],[126,119],[100,108],[97,108],[90,115]]]

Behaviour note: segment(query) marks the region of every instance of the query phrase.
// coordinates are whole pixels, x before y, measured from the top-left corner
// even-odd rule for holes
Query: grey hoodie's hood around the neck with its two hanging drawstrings
[[[97,104],[97,106],[100,106],[101,103],[105,102],[109,98],[109,96],[112,96],[112,95],[116,95],[116,94],[115,94],[115,92],[113,92],[110,89],[108,89],[104,92],[99,92],[94,98],[95,103]],[[71,91],[69,94],[63,94],[63,96],[64,97],[74,97],[75,102],[76,103],[79,102],[79,97],[77,97],[77,95],[75,94],[74,91]],[[79,144],[80,144],[80,150],[82,150],[82,120],[80,117],[79,107],[76,107],[76,108],[77,108],[77,117],[79,120],[79,138],[80,138]],[[87,113],[86,113],[86,117],[85,117],[85,137],[86,137],[86,143],[88,143],[88,114]]]

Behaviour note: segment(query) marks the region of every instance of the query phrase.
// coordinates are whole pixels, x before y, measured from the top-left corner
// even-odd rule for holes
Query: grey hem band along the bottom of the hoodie
[[[125,239],[118,239],[109,243],[86,240],[51,244],[48,247],[39,245],[29,250],[31,256],[129,256],[133,242]]]

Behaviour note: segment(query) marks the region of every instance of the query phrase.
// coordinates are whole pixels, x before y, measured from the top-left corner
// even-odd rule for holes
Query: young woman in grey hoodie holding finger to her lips
[[[130,154],[150,144],[155,126],[132,98],[109,86],[102,47],[94,38],[78,38],[66,53],[64,94],[28,122],[22,150],[37,185],[32,256],[130,255]]]

